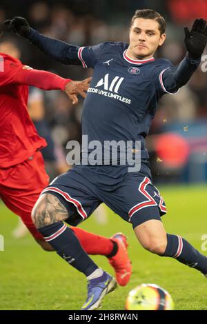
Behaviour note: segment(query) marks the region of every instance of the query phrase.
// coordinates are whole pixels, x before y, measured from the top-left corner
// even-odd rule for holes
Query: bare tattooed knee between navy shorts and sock
[[[68,219],[68,210],[53,194],[39,197],[32,210],[32,221],[39,228]]]

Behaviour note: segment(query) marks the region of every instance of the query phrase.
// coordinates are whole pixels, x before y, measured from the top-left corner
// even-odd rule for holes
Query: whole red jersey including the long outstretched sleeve
[[[65,90],[70,81],[0,53],[0,168],[21,163],[47,145],[28,114],[28,85]]]

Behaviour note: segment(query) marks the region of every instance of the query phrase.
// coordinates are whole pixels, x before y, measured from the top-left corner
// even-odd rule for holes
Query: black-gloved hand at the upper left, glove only
[[[22,37],[28,37],[30,33],[30,25],[23,17],[14,17],[14,19],[6,20],[3,22],[4,26],[6,26],[7,30],[13,32]]]

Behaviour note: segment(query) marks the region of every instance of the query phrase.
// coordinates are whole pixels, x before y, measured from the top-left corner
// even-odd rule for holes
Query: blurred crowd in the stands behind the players
[[[206,0],[19,0],[18,3],[1,0],[0,21],[23,16],[28,19],[32,28],[42,34],[76,45],[93,45],[103,41],[127,43],[130,19],[139,8],[153,8],[166,18],[167,38],[157,51],[157,57],[170,59],[175,65],[186,53],[184,26],[192,26],[196,17],[207,19]],[[70,79],[84,79],[92,74],[92,70],[83,70],[80,66],[65,66],[50,59],[25,39],[15,37],[14,41],[21,50],[21,61],[33,68],[50,70]],[[207,49],[204,54],[207,54]],[[207,72],[202,71],[200,65],[188,85],[181,88],[177,95],[166,94],[161,99],[148,139],[148,148],[153,158],[152,169],[158,180],[161,179],[161,174],[166,179],[170,172],[184,177],[184,166],[189,162],[190,154],[197,152],[198,148],[202,155],[206,155],[204,164],[207,166],[207,141],[204,140],[207,138],[206,90]],[[57,160],[63,159],[66,143],[71,139],[81,141],[82,100],[79,100],[79,105],[72,106],[62,92],[35,92],[31,89],[30,102],[34,103],[35,100],[41,101],[43,105],[44,112],[40,119],[47,123],[52,139],[55,140]],[[37,117],[34,117],[34,121],[35,118]],[[176,139],[175,142],[170,141],[170,138],[166,139],[171,150],[161,152],[159,135],[166,132],[177,134],[177,142]],[[181,145],[181,139],[184,140],[183,146],[178,145]],[[172,150],[174,143],[179,148],[177,152]],[[185,159],[180,156],[181,150],[188,151]],[[177,155],[177,160],[170,160],[170,154]],[[174,155],[172,157],[175,158]],[[178,161],[183,163],[179,165]],[[189,178],[189,174],[187,177]]]

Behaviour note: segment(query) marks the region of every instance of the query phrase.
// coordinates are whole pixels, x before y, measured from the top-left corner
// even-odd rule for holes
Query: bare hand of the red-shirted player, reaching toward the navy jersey
[[[70,81],[66,84],[66,94],[72,100],[72,104],[76,105],[78,103],[77,95],[80,94],[81,97],[86,98],[86,92],[90,86],[90,81],[92,78],[85,79],[83,81]]]

